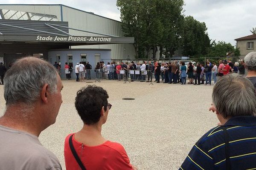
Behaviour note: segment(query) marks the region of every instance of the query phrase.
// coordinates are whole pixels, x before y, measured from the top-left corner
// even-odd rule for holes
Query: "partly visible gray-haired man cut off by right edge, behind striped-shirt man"
[[[247,78],[256,88],[256,52],[250,52],[244,57],[245,68],[247,68]]]

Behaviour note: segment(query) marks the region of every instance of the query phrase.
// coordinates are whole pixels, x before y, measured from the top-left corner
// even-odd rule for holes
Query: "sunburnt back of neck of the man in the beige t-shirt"
[[[11,106],[0,118],[0,125],[39,136],[42,128],[39,126],[40,121],[35,119],[34,114],[33,111],[28,113],[19,106]]]

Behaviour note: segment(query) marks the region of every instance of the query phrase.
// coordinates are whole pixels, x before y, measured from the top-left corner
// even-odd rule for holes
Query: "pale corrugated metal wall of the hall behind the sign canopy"
[[[61,21],[60,5],[0,5],[0,8],[16,11],[36,12],[42,14],[52,14]],[[67,6],[62,6],[63,21],[69,23],[69,27],[84,31],[109,34],[122,37],[121,22],[111,20],[105,17],[90,14]],[[81,31],[70,30],[70,34],[81,36],[97,36],[96,34],[85,33]],[[73,46],[72,48],[107,48],[111,49],[112,59],[134,58],[135,51],[132,44],[110,44],[110,45],[83,45]]]

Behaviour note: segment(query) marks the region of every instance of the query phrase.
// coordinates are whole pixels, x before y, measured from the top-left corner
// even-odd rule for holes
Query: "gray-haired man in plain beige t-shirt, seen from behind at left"
[[[61,170],[56,156],[42,146],[38,136],[55,123],[62,88],[54,66],[42,59],[19,59],[6,72],[6,111],[0,118],[0,169]]]

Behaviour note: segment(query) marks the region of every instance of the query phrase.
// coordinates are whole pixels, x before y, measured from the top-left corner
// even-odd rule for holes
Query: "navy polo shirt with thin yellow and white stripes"
[[[231,170],[256,170],[254,116],[236,116],[225,125],[209,130],[195,143],[179,170],[225,170],[224,127],[228,136]]]

